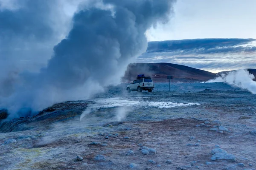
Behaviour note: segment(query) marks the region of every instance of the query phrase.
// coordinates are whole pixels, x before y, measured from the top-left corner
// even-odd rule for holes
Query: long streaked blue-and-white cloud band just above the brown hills
[[[171,62],[219,72],[256,68],[254,39],[195,39],[148,42],[138,62]]]

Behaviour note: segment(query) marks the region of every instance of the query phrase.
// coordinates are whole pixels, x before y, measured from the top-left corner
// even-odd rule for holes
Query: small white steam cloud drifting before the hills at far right
[[[227,74],[221,74],[220,77],[208,80],[207,82],[225,82],[234,87],[247,89],[252,94],[256,94],[256,82],[253,81],[255,77],[247,70],[230,71]]]

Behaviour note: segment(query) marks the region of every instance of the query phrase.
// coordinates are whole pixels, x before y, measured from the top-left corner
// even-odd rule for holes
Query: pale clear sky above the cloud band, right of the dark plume
[[[177,0],[171,18],[151,28],[148,40],[256,39],[256,0]]]

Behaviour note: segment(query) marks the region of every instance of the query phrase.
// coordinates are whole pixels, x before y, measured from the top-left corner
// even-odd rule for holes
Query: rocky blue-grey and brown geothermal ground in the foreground
[[[256,169],[256,95],[223,83],[168,89],[120,85],[2,122],[0,170]]]

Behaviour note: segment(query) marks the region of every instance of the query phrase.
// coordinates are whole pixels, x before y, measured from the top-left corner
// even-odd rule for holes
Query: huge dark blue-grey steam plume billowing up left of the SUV
[[[31,109],[32,112],[29,114],[33,114],[34,111],[39,111],[55,102],[84,99],[90,94],[101,91],[105,86],[118,84],[127,65],[146,50],[145,31],[157,26],[158,22],[168,21],[174,1],[91,0],[89,3],[86,1],[87,3],[79,6],[79,11],[74,14],[73,27],[67,37],[53,48],[53,55],[46,67],[41,68],[39,72],[23,69],[15,76],[1,81],[5,93],[0,93],[0,108],[7,108],[11,113],[17,113],[12,114],[11,118],[29,116],[24,115],[24,108],[26,114],[26,108]],[[49,9],[48,3],[52,1],[25,0],[24,2],[27,3],[23,4],[25,8],[22,9],[27,15],[21,16],[24,17],[22,19],[30,20],[34,14],[31,11],[37,11],[35,14],[39,18],[29,21],[31,24],[29,29],[22,25],[26,25],[26,22],[22,23],[23,20],[18,20],[23,26],[20,36],[5,34],[3,37],[2,32],[8,31],[9,25],[6,23],[6,28],[0,27],[1,44],[5,43],[4,38],[12,37],[13,41],[20,40],[22,36],[28,37],[26,34],[30,35],[31,31],[35,31],[32,34],[35,38],[45,42],[54,35],[51,25],[44,23],[49,19],[47,15],[49,10],[43,8],[40,11],[29,5],[32,2],[40,3],[38,8],[41,8],[43,3],[46,4],[46,9]],[[11,17],[19,14],[19,11],[8,12]],[[3,15],[2,11],[0,11],[1,15]],[[37,22],[42,23],[42,26],[38,26]],[[45,30],[45,34],[41,35]],[[6,52],[1,50],[1,58],[8,57],[8,53],[12,50],[7,49]],[[38,51],[34,54],[34,57],[37,57]],[[8,73],[1,74],[6,76]]]

